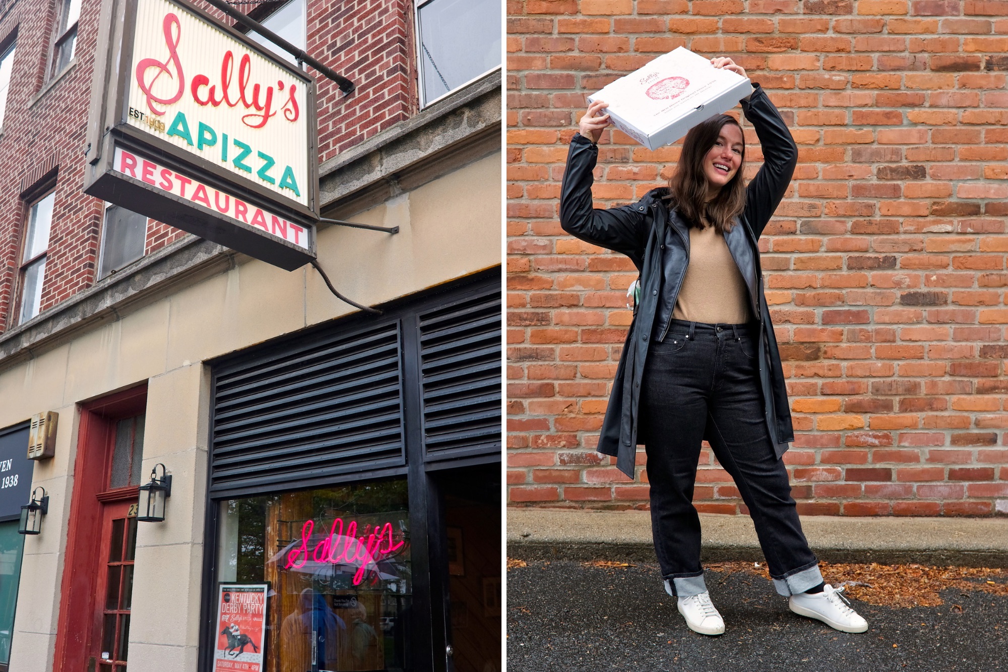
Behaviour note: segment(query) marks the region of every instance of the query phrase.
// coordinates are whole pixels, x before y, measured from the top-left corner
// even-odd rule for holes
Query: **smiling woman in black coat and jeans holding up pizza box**
[[[731,59],[715,68],[745,77]],[[739,122],[716,115],[685,136],[668,187],[632,205],[594,209],[597,142],[609,125],[596,101],[571,141],[560,225],[622,252],[640,271],[639,306],[623,347],[598,450],[631,478],[636,446],[647,452],[654,547],[665,590],[686,625],[721,635],[701,565],[692,506],[703,441],[732,475],[756,524],[770,576],[790,609],[837,630],[863,633],[864,619],[825,585],[808,548],[781,455],[793,440],[787,391],[763,297],[757,239],[784,196],[797,161],[791,134],[756,86],[743,99],[763,165],[743,182]]]

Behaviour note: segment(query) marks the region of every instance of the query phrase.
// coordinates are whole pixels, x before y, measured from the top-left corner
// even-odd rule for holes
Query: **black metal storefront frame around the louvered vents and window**
[[[216,625],[215,591],[218,563],[218,535],[220,502],[225,499],[254,496],[281,491],[303,490],[311,487],[337,485],[350,481],[372,480],[406,476],[409,499],[411,561],[413,576],[412,607],[409,624],[410,672],[448,672],[449,655],[446,647],[451,644],[451,618],[449,613],[448,547],[445,530],[444,497],[435,475],[446,469],[499,464],[501,446],[496,450],[486,447],[471,451],[456,451],[438,457],[427,454],[423,426],[423,391],[421,384],[421,334],[419,316],[440,306],[481,296],[496,294],[500,301],[500,268],[456,281],[435,290],[412,295],[403,300],[382,306],[380,318],[354,315],[335,323],[311,327],[293,336],[257,345],[240,353],[208,362],[212,367],[211,388],[211,449],[208,473],[208,498],[204,534],[203,599],[200,629],[200,670],[213,669],[214,626]],[[499,313],[499,311],[498,311]],[[348,333],[377,323],[399,321],[401,324],[401,420],[404,452],[402,462],[378,468],[366,464],[354,465],[342,473],[332,473],[309,480],[290,480],[271,485],[253,485],[228,488],[212,492],[214,475],[214,427],[216,421],[218,372],[240,360],[267,358],[268,350],[275,351],[284,345],[293,347],[314,340],[324,340],[334,333]],[[498,325],[503,334],[502,323]],[[499,408],[498,403],[498,408]],[[498,421],[499,422],[499,421]],[[498,442],[500,432],[498,432]],[[387,460],[386,460],[387,463]],[[499,490],[498,490],[499,491]],[[431,543],[433,541],[433,543]],[[439,643],[444,642],[445,646]],[[438,644],[435,644],[438,643]]]

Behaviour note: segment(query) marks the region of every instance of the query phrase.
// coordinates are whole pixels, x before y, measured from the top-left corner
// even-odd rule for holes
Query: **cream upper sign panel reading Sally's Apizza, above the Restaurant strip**
[[[301,205],[305,83],[168,0],[138,0],[127,123]]]

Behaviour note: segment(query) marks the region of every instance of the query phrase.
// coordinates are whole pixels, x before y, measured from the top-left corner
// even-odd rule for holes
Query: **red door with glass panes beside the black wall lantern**
[[[102,507],[102,543],[95,593],[98,608],[95,609],[88,652],[89,670],[126,672],[135,555],[136,499],[106,502]],[[91,661],[97,665],[93,666]]]

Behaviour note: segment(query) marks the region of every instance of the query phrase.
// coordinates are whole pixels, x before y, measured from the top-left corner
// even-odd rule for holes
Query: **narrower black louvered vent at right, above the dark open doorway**
[[[419,316],[428,460],[501,449],[501,295]]]

